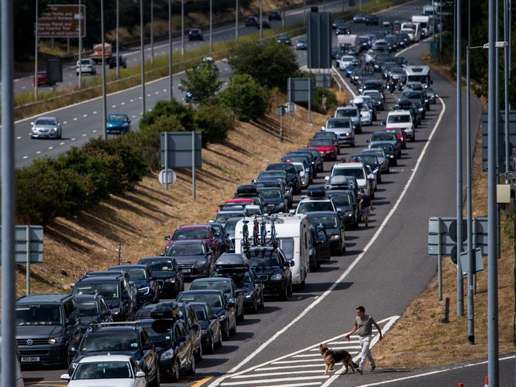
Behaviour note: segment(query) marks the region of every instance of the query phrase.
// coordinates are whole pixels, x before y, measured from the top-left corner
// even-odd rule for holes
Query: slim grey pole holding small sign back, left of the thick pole
[[[471,205],[471,83],[470,71],[470,21],[471,0],[468,1],[468,47],[466,47],[466,206],[468,210],[468,342],[475,344],[475,303],[473,300],[473,274],[476,272],[475,256],[473,255],[473,208]]]

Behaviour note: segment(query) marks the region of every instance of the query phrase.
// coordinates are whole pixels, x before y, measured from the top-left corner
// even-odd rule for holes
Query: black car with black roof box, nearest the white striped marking
[[[182,372],[195,375],[195,346],[184,322],[178,317],[176,302],[152,305],[148,318],[140,325],[149,333],[159,358],[160,374],[170,376],[174,382]]]

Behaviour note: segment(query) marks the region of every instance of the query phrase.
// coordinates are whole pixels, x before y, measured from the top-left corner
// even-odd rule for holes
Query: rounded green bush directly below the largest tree
[[[232,76],[229,85],[219,93],[219,101],[233,109],[241,121],[263,117],[269,107],[270,92],[249,74]]]

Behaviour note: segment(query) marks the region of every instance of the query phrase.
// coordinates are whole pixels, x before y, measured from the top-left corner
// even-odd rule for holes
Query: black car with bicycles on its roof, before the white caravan
[[[251,247],[246,254],[249,266],[256,278],[265,286],[265,294],[277,294],[282,300],[292,296],[292,272],[294,261],[288,261],[277,247]]]

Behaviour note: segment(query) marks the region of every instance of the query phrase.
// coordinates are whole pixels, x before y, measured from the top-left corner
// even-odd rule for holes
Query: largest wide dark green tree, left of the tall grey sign
[[[292,48],[284,43],[240,43],[230,49],[228,63],[235,74],[249,74],[272,89],[287,88],[287,78],[297,76],[298,65]]]

